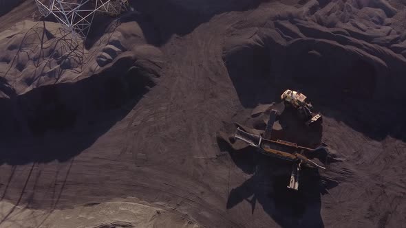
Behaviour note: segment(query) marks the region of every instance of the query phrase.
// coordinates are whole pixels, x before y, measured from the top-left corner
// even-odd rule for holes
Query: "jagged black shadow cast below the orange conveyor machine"
[[[319,172],[311,168],[301,170],[299,190],[288,189],[290,163],[262,155],[253,148],[233,150],[218,139],[222,151],[228,151],[233,162],[250,179],[229,192],[226,208],[249,203],[255,213],[256,203],[281,227],[324,227],[321,218],[321,194],[336,183],[323,183]]]

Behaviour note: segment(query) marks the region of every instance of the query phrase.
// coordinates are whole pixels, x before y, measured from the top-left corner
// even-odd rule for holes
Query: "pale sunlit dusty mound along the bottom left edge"
[[[68,209],[43,209],[15,207],[2,201],[1,213],[10,218],[2,227],[199,227],[194,221],[150,205],[147,202],[126,198],[103,203],[76,205]],[[28,225],[30,224],[30,225]]]

